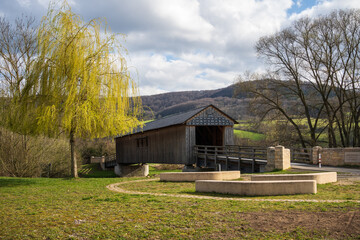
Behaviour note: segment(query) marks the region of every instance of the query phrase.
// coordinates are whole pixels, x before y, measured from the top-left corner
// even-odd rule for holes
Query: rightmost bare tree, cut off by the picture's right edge
[[[339,63],[332,85],[339,110],[334,114],[343,146],[360,146],[360,11],[340,11],[336,19],[337,39],[335,48]]]

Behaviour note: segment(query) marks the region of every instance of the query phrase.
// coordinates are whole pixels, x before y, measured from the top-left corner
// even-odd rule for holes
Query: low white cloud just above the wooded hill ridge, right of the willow
[[[191,60],[192,59],[192,60]],[[220,72],[212,68],[202,68],[213,56],[187,54],[184,59],[167,59],[161,54],[133,56],[132,63],[137,66],[140,92],[144,95],[189,89],[215,89],[226,87],[235,72]],[[157,89],[156,91],[154,89]]]

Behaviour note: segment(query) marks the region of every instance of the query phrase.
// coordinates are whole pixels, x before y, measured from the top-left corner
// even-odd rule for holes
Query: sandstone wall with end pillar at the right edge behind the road
[[[312,163],[328,166],[357,165],[360,166],[360,148],[321,148],[314,147]]]

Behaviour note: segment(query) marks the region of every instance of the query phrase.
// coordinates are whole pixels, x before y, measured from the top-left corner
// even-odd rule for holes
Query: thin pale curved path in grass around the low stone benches
[[[179,197],[179,198],[195,198],[195,199],[211,199],[211,200],[232,200],[232,201],[255,201],[255,202],[316,202],[316,203],[341,203],[341,202],[356,202],[359,200],[316,200],[316,199],[260,199],[260,198],[233,198],[233,197],[212,197],[212,196],[200,196],[200,195],[186,195],[186,194],[168,194],[168,193],[149,193],[149,192],[137,192],[125,190],[120,187],[127,183],[133,182],[149,182],[159,181],[159,178],[154,179],[141,179],[134,181],[126,181],[120,183],[113,183],[106,186],[107,189],[114,192],[126,193],[126,194],[140,194],[140,195],[152,195],[152,196],[165,196],[165,197]]]

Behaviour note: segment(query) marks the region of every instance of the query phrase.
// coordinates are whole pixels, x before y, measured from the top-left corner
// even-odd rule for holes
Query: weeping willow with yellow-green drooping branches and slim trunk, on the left
[[[65,134],[77,177],[76,138],[99,138],[139,126],[141,102],[119,35],[99,19],[84,22],[66,1],[50,5],[38,32],[38,56],[23,89],[23,109],[35,109],[36,132]],[[25,110],[24,110],[25,111]]]

